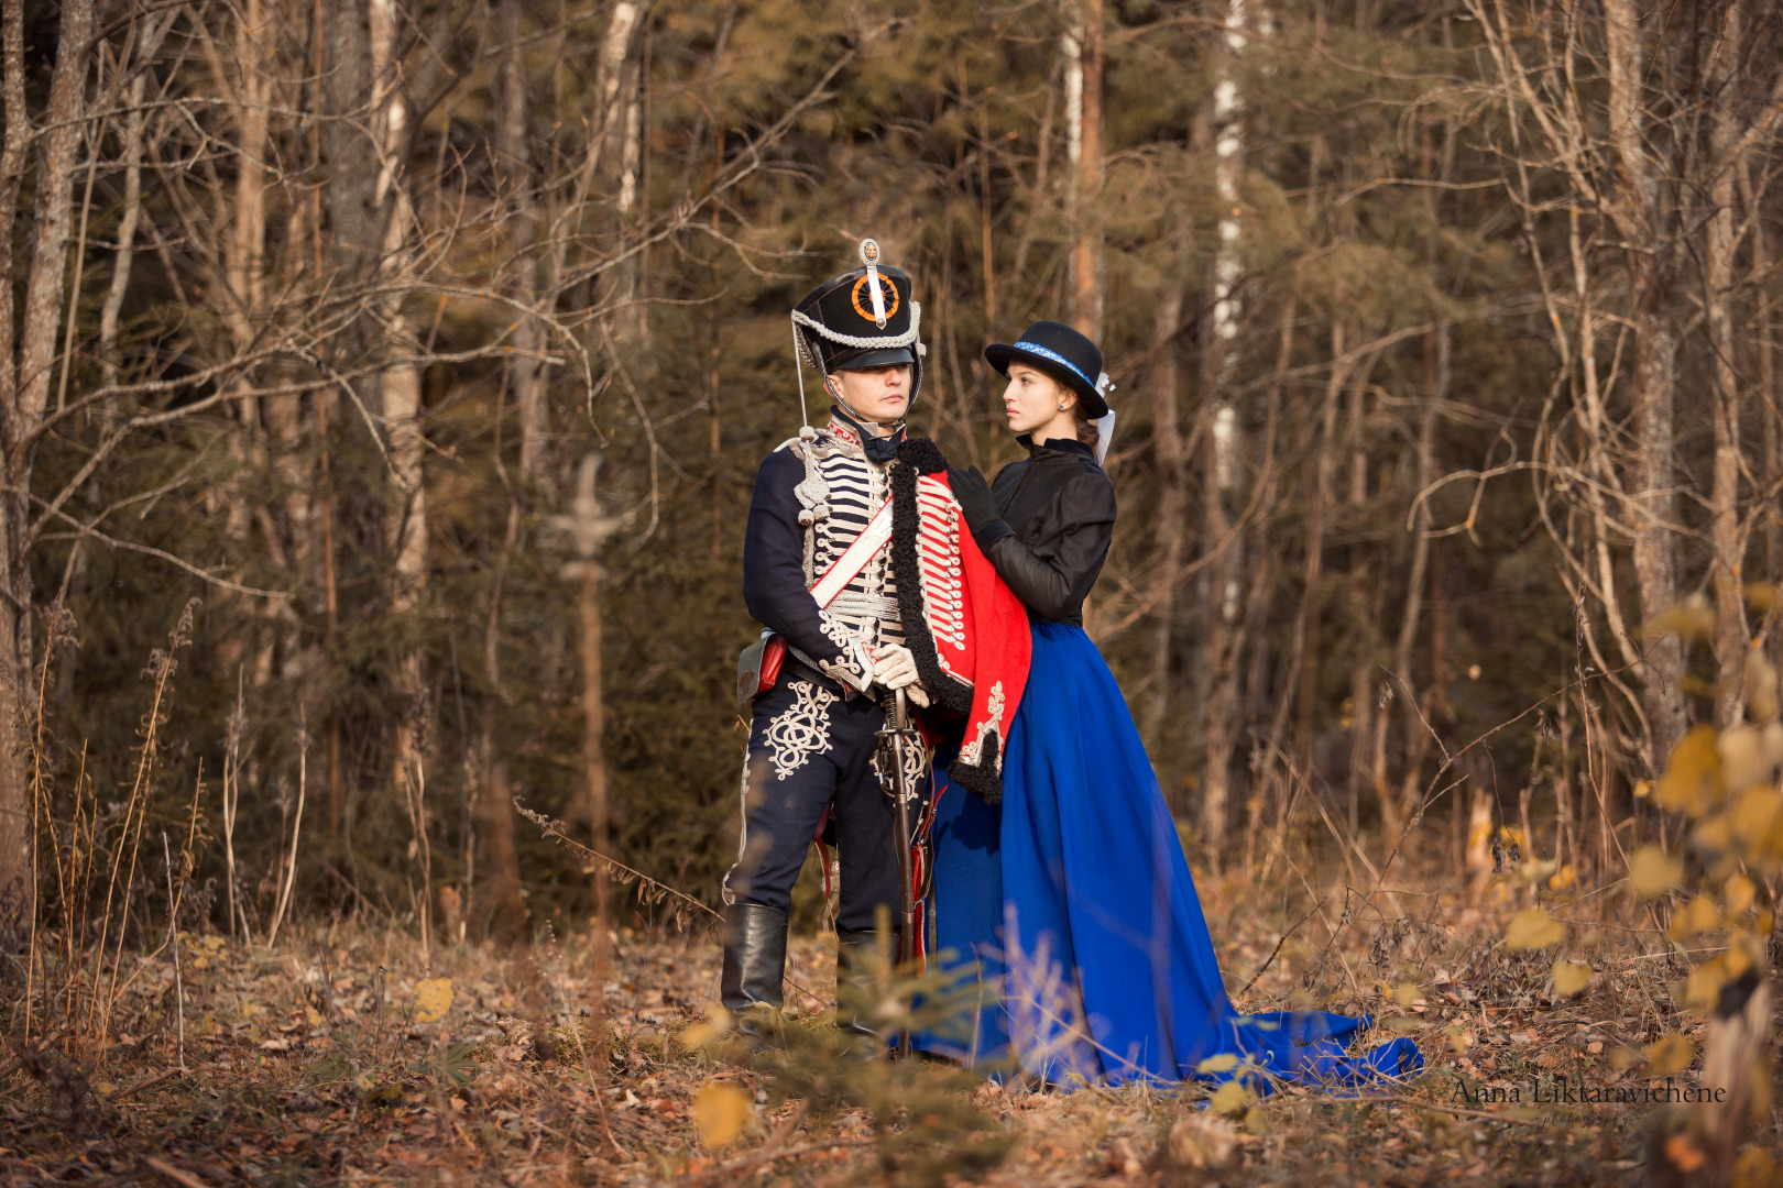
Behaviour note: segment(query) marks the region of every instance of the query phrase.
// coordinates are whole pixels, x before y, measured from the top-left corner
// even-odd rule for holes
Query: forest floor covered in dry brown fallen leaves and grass
[[[80,1026],[52,1024],[41,1047],[14,1042],[0,1054],[0,1183],[1640,1179],[1649,1149],[1664,1145],[1665,1106],[1567,1097],[1664,1088],[1662,1062],[1678,1067],[1672,1085],[1694,1085],[1701,1037],[1660,1044],[1694,1035],[1671,1006],[1683,964],[1599,928],[1574,946],[1596,969],[1589,987],[1555,996],[1553,953],[1498,944],[1528,892],[1434,875],[1396,887],[1396,919],[1389,908],[1344,926],[1327,903],[1298,928],[1303,907],[1259,905],[1237,876],[1200,880],[1230,987],[1280,946],[1241,1010],[1371,1012],[1353,1051],[1396,1035],[1417,1042],[1425,1072],[1369,1097],[1289,1086],[1216,1101],[1221,1117],[1202,1083],[1007,1092],[924,1060],[838,1060],[826,1026],[834,942],[811,937],[792,946],[801,990],[786,1046],[742,1058],[703,1042],[719,981],[710,935],[637,930],[615,935],[604,994],[613,1038],[596,1067],[587,948],[549,937],[524,955],[435,946],[430,967],[405,932],[335,924],[276,951],[182,935],[184,1042],[171,951],[141,967],[103,1058],[91,1031],[84,1060],[64,1054]],[[1332,891],[1341,903],[1343,882]],[[1335,946],[1328,926],[1341,932]],[[540,1021],[549,1038],[535,1040]],[[1701,1152],[1678,1142],[1667,1154],[1689,1172]],[[1771,1181],[1778,1149],[1772,1111],[1747,1140],[1740,1179]]]

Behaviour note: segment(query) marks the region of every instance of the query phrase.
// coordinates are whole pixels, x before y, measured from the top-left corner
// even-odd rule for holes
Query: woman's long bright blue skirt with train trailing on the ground
[[[1268,1092],[1423,1069],[1409,1038],[1346,1056],[1366,1015],[1234,1012],[1114,675],[1082,627],[1032,623],[1032,638],[1002,805],[938,775],[934,948],[981,992],[954,1035],[913,1042],[1056,1085],[1243,1076]],[[1230,1058],[1198,1070],[1214,1056]]]

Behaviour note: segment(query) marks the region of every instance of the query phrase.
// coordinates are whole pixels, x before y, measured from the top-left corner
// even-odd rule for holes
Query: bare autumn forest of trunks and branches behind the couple
[[[0,883],[50,894],[48,821],[128,832],[136,787],[184,830],[198,787],[230,932],[585,910],[515,796],[715,901],[786,312],[863,235],[916,280],[913,427],[956,463],[1018,452],[986,342],[1102,342],[1088,629],[1196,860],[1273,866],[1316,805],[1614,880],[1776,652],[1771,5],[0,27]]]

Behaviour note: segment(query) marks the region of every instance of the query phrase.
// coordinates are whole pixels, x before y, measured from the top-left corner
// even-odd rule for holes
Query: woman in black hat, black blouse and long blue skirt
[[[934,948],[975,964],[984,994],[970,1035],[916,1046],[1054,1085],[1245,1076],[1266,1092],[1271,1078],[1355,1085],[1421,1069],[1409,1038],[1344,1056],[1366,1017],[1234,1012],[1139,732],[1082,627],[1114,527],[1102,353],[1034,322],[984,358],[1009,378],[1004,408],[1029,456],[993,484],[977,468],[949,481],[1027,606],[1034,650],[1002,801],[945,784],[938,764]]]

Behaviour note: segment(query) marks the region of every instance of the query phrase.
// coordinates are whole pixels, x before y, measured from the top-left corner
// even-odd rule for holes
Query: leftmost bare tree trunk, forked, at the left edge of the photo
[[[12,258],[12,223],[18,208],[18,178],[32,134],[25,109],[23,0],[0,2],[5,66],[5,148],[0,150],[0,237],[5,273],[0,289],[0,369],[11,370],[0,390],[0,449],[5,492],[0,495],[0,891],[30,885],[29,784],[25,777],[25,716],[30,712],[30,557],[29,517],[36,433],[50,395],[55,365],[55,331],[62,321],[68,271],[68,239],[73,221],[73,171],[86,125],[86,78],[93,46],[93,0],[64,0],[50,75],[50,107],[37,139],[37,176],[32,210],[30,273],[25,280],[25,310],[12,367],[12,294],[18,281]],[[66,363],[64,363],[66,365]]]

